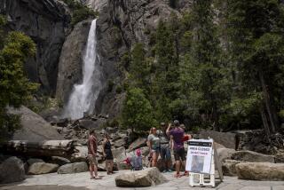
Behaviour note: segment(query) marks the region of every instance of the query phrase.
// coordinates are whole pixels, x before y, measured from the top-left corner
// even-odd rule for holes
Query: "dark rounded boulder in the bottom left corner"
[[[0,164],[0,184],[19,182],[25,178],[24,163],[19,158],[13,156]]]

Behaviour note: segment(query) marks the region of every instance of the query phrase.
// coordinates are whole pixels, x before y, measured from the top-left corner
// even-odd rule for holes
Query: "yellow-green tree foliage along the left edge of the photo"
[[[20,32],[11,32],[4,39],[0,51],[0,131],[1,135],[18,128],[19,118],[6,114],[5,107],[20,107],[31,98],[37,84],[30,83],[24,74],[23,64],[35,56],[36,44]],[[4,136],[1,137],[1,139]]]

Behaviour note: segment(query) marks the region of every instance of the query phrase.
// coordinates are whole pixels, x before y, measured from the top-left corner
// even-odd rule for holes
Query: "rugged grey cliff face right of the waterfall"
[[[99,54],[104,67],[104,90],[101,91],[97,112],[111,118],[122,110],[125,95],[107,91],[107,83],[121,84],[122,74],[118,65],[123,54],[134,44],[149,43],[150,34],[157,28],[159,20],[167,20],[171,12],[181,15],[191,1],[178,1],[176,9],[168,0],[108,0],[99,14]]]

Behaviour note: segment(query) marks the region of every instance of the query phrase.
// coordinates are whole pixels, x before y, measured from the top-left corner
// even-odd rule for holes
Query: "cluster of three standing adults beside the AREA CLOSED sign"
[[[163,172],[171,172],[171,150],[175,157],[175,177],[188,176],[188,172],[180,174],[182,167],[185,167],[185,141],[191,139],[191,136],[185,134],[185,127],[177,120],[168,126],[161,123],[161,130],[151,128],[147,139],[147,145],[150,149],[151,166],[157,167],[159,156],[163,164]]]

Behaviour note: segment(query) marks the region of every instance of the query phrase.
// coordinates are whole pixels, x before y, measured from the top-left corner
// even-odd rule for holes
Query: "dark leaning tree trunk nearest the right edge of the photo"
[[[278,129],[278,127],[279,127],[279,121],[278,121],[276,109],[273,105],[272,94],[270,93],[269,89],[267,88],[268,86],[265,83],[264,72],[262,70],[259,72],[259,77],[260,77],[262,90],[264,92],[264,105],[266,107],[266,111],[267,111],[267,114],[269,116],[270,131],[271,131],[271,133],[275,133],[276,130]]]

